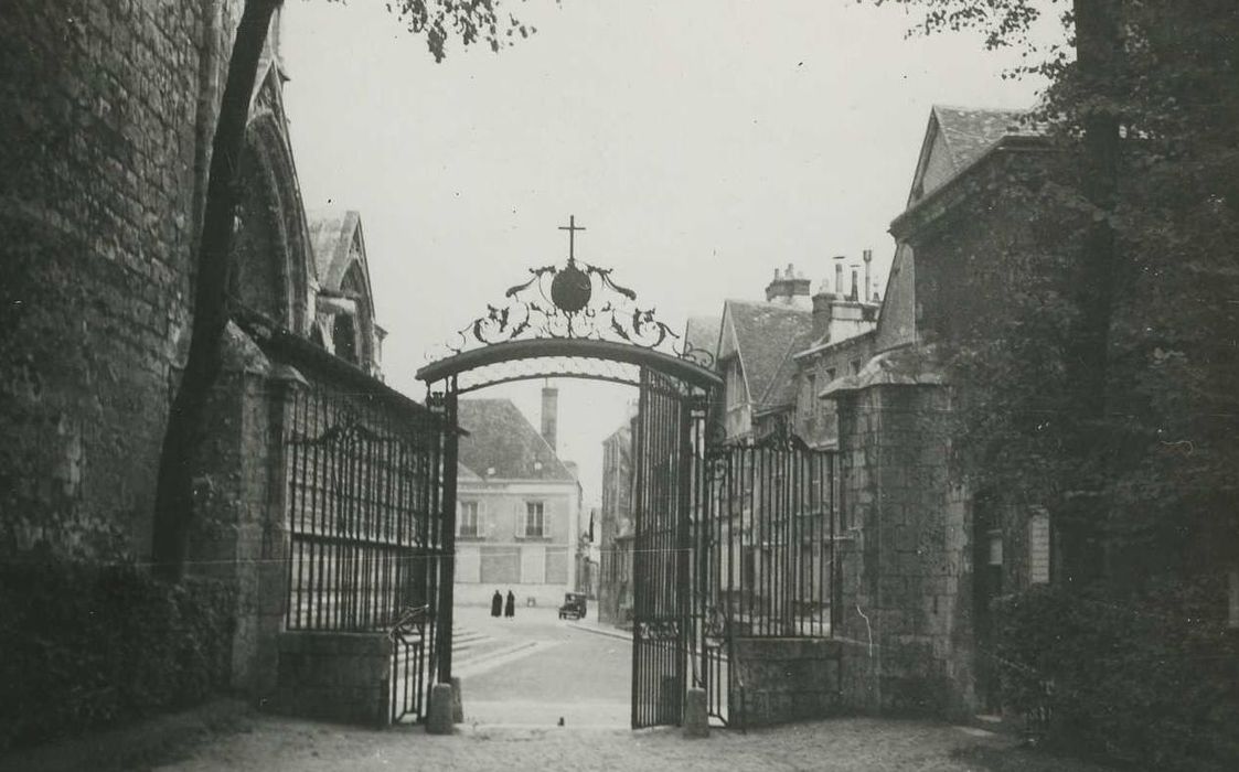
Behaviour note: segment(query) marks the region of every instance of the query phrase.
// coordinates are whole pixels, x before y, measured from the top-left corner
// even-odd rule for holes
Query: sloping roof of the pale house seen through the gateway
[[[576,480],[510,399],[462,399],[460,462],[484,480]],[[488,473],[489,470],[494,473]]]

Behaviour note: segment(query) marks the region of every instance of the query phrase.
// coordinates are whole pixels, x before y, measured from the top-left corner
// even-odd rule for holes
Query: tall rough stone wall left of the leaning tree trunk
[[[149,554],[235,6],[4,4],[0,554]]]

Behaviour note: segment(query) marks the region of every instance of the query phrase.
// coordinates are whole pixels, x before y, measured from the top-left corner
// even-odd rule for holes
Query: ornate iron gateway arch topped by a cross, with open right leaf
[[[567,228],[579,230],[575,222]],[[704,507],[710,409],[722,382],[710,356],[693,351],[637,305],[607,269],[577,261],[530,269],[507,304],[461,328],[444,356],[418,372],[427,403],[456,425],[458,398],[488,387],[543,378],[584,378],[638,390],[633,442],[634,565],[632,726],[680,724],[690,686],[709,689],[710,667],[694,620],[695,527]],[[455,534],[457,441],[444,458],[445,534]],[[449,537],[453,539],[453,537]],[[446,543],[445,551],[455,553]],[[451,577],[440,584],[437,629],[451,636]],[[451,642],[436,651],[437,678],[451,679]]]

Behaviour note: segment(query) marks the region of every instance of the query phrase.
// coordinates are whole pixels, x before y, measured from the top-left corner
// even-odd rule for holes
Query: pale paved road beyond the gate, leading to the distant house
[[[628,641],[560,621],[553,608],[519,608],[515,618],[496,620],[484,608],[463,607],[456,618],[506,642],[510,652],[465,658],[455,667],[467,722],[550,727],[563,719],[566,726],[628,726]]]

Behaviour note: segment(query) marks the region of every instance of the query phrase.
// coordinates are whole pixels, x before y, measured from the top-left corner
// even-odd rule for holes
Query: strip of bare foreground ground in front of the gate
[[[420,727],[346,729],[261,716],[161,770],[918,770],[1090,772],[1075,761],[1014,747],[996,735],[940,724],[843,719],[685,740],[676,730],[466,725],[455,736]]]

